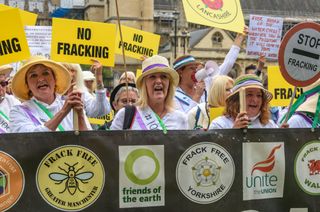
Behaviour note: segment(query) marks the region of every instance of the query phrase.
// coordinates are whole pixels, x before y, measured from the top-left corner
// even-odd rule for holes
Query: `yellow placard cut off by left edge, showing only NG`
[[[30,57],[18,9],[0,12],[0,29],[2,29],[0,32],[0,65],[18,62]]]

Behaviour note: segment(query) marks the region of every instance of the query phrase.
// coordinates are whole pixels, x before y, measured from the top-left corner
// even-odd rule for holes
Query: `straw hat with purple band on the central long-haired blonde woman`
[[[165,57],[160,55],[154,55],[145,59],[142,62],[142,74],[137,79],[137,88],[140,90],[142,87],[142,79],[150,74],[165,73],[171,78],[171,82],[174,86],[179,83],[179,75],[169,66],[169,62]]]

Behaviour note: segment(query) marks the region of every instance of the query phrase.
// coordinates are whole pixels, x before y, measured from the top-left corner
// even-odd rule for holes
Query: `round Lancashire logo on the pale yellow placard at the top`
[[[186,2],[198,15],[213,23],[228,24],[238,14],[238,0],[186,0]]]

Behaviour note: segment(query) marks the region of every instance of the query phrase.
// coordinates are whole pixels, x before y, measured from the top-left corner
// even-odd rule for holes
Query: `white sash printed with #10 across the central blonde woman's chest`
[[[143,110],[137,107],[136,117],[131,129],[162,130],[162,127],[150,107]]]

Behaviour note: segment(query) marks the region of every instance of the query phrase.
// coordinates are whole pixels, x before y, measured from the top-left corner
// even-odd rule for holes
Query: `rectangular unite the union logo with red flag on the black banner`
[[[283,143],[243,144],[243,199],[283,196],[285,159]]]

